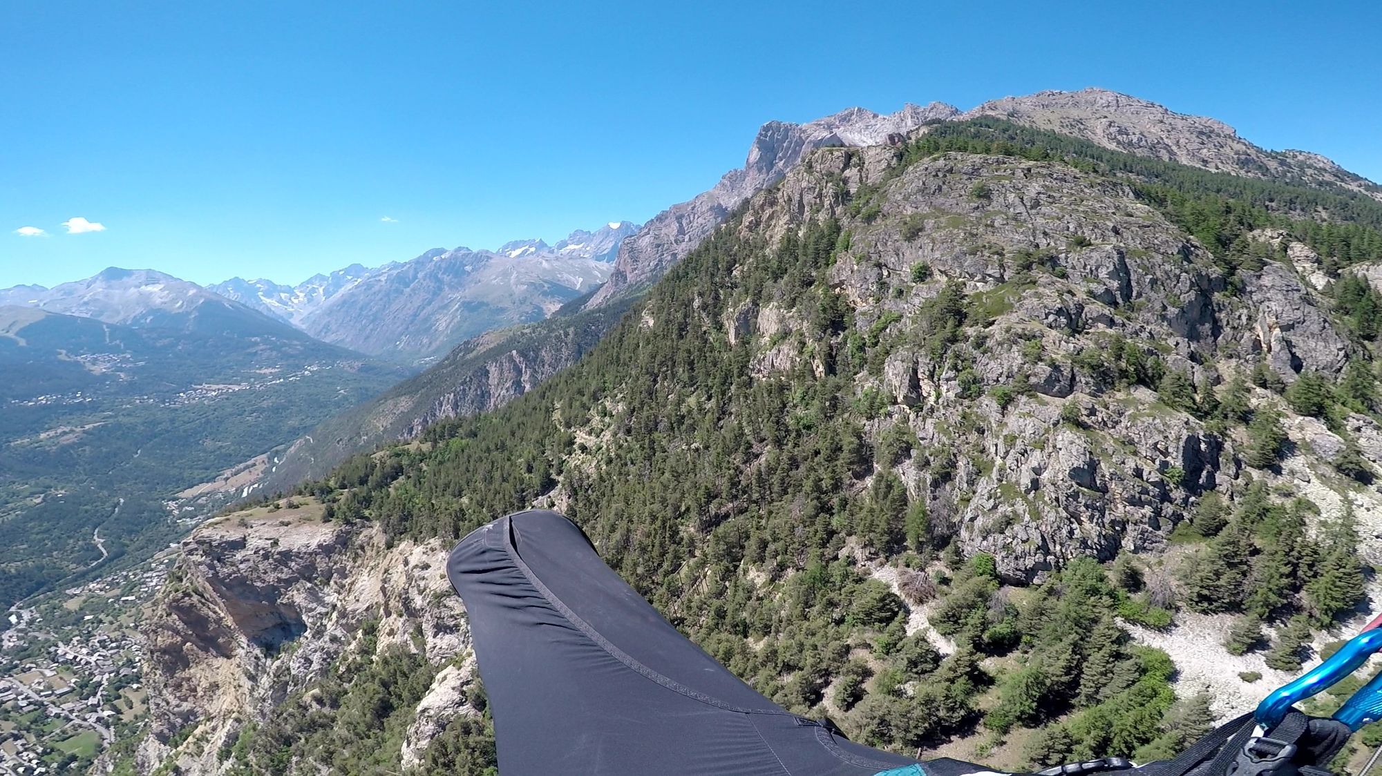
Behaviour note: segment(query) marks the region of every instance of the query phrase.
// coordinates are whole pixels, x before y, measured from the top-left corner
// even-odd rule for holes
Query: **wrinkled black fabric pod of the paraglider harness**
[[[916,764],[760,696],[556,512],[471,532],[446,573],[466,602],[503,776],[871,776]],[[977,770],[926,764],[930,776]]]

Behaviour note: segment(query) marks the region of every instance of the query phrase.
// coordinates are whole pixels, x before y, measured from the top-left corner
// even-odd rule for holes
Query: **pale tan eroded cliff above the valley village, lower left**
[[[231,764],[217,751],[358,649],[366,621],[377,621],[379,646],[422,649],[434,664],[468,656],[444,543],[387,547],[376,526],[321,515],[312,503],[258,508],[217,518],[182,543],[141,627],[152,717],[144,772],[174,762],[182,773],[221,773]],[[464,700],[473,678],[473,657],[438,674],[409,732],[413,757],[453,715],[478,714]]]

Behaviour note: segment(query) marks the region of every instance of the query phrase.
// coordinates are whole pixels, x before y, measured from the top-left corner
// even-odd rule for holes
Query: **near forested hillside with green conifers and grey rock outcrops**
[[[572,369],[299,497],[394,541],[561,510],[735,674],[871,744],[1165,757],[1236,700],[1177,699],[1148,634],[1231,621],[1247,697],[1382,561],[1379,228],[1342,186],[996,119],[822,149]],[[383,768],[423,688],[354,649],[228,766],[351,762],[340,719]],[[427,772],[484,772],[486,741],[456,715]]]

